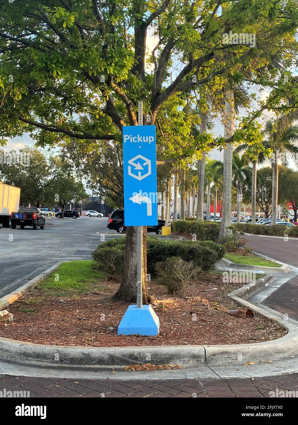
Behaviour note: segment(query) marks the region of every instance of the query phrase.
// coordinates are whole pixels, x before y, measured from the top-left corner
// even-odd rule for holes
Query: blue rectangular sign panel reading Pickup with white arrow
[[[155,125],[123,127],[124,224],[157,224]]]

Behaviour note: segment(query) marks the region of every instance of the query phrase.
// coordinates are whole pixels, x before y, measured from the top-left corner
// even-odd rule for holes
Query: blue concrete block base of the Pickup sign
[[[159,334],[159,318],[151,306],[138,308],[128,306],[118,326],[118,335],[142,335],[157,337]]]

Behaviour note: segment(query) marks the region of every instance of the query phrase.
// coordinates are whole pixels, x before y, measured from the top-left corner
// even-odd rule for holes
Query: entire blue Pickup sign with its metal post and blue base
[[[159,318],[150,305],[142,305],[143,226],[156,226],[156,129],[143,124],[143,102],[138,105],[138,125],[123,127],[123,181],[125,227],[137,227],[136,305],[128,306],[118,335],[159,334]]]

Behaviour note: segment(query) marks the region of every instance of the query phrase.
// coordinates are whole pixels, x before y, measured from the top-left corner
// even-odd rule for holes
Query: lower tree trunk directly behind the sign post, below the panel
[[[143,278],[142,278],[142,295],[143,303],[148,303],[148,286],[147,286],[147,227],[143,226]],[[124,263],[121,284],[114,295],[115,301],[126,301],[128,303],[136,303],[136,283],[137,283],[137,227],[126,227],[126,241],[124,252]],[[135,249],[134,249],[135,248]]]

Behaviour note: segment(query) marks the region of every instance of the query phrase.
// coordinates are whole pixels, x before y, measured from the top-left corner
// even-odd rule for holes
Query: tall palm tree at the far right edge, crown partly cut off
[[[267,136],[268,143],[273,150],[272,155],[272,224],[276,224],[278,204],[278,164],[281,156],[282,162],[287,163],[287,153],[294,156],[298,153],[298,147],[292,142],[298,141],[298,126],[292,123],[298,119],[298,113],[292,112],[280,116],[275,122],[266,122],[263,134]]]

